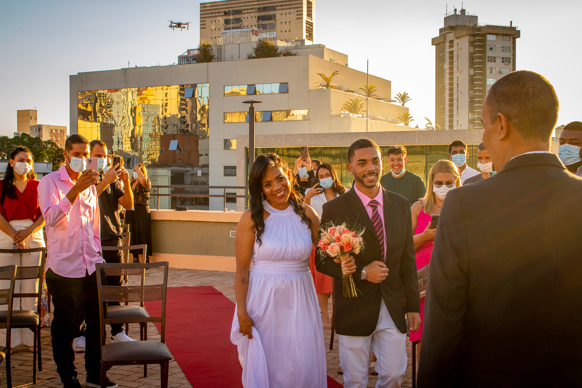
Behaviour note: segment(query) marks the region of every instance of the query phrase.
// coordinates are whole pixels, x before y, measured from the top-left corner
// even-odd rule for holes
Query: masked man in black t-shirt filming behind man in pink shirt
[[[90,143],[92,158],[105,158],[101,182],[98,183],[97,195],[99,196],[99,212],[101,214],[101,245],[104,247],[121,247],[121,224],[119,221],[119,205],[126,210],[133,208],[133,193],[129,184],[129,173],[122,166],[106,166],[107,145],[101,140],[93,140]],[[123,181],[123,187],[120,183]],[[123,262],[122,251],[103,251],[106,263]],[[121,286],[121,276],[107,276],[109,286]],[[108,305],[120,305],[118,302],[108,302]],[[111,341],[134,341],[123,330],[122,323],[111,325]]]

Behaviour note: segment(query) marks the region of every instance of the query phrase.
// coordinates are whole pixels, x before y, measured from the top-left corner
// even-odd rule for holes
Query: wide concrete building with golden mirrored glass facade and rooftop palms
[[[326,55],[335,52],[322,45],[296,50],[309,55],[75,74],[70,76],[71,133],[101,138],[110,151],[123,155],[126,168],[145,163],[151,179],[169,172],[176,184],[236,186],[237,176],[244,176],[237,169],[236,138],[248,134],[249,106],[242,102],[249,98],[262,101],[255,106],[259,136],[328,134],[320,135],[325,145],[326,136],[361,133],[366,127],[370,132],[411,130],[396,124],[408,108],[387,102],[389,80],[370,75],[376,89],[366,115],[360,90],[364,72],[332,62]],[[338,58],[347,63],[347,56]],[[318,73],[334,71],[339,74],[327,88]],[[350,113],[346,102],[359,111]],[[197,200],[179,198],[189,208],[223,209],[222,198]],[[227,207],[235,209],[236,203]]]

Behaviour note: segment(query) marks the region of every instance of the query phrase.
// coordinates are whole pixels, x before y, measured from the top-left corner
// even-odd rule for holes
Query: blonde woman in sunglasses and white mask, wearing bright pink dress
[[[416,269],[421,269],[431,259],[437,228],[431,229],[431,215],[440,214],[446,194],[455,187],[461,186],[461,176],[457,166],[449,160],[435,163],[428,175],[427,193],[424,198],[414,202],[412,212],[412,228],[414,229],[414,250],[416,250]],[[424,300],[420,300],[420,318],[424,321]],[[410,332],[410,341],[418,341],[417,357],[420,355],[420,342],[423,337],[423,321],[418,332]]]

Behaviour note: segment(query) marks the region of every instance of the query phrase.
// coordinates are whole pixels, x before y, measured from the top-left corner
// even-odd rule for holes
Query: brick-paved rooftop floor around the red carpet
[[[146,283],[158,283],[161,279],[162,272],[157,269],[148,270],[145,276]],[[212,286],[221,291],[229,300],[235,302],[235,290],[233,282],[235,273],[218,272],[196,269],[169,269],[168,287],[180,286]],[[131,284],[130,280],[130,284]],[[159,284],[159,283],[158,283]],[[329,300],[329,314],[331,316],[331,300]],[[52,318],[52,313],[50,314]],[[139,339],[139,325],[130,325],[129,336]],[[331,330],[324,330],[328,375],[339,383],[343,384],[342,375],[338,375],[336,368],[339,363],[338,336],[333,341],[333,350],[329,350],[329,336]],[[158,330],[154,325],[148,325],[148,339],[159,340]],[[52,359],[51,331],[50,328],[42,329],[42,372],[37,372],[37,384],[32,384],[32,363],[33,354],[29,352],[28,347],[19,346],[13,349],[11,367],[12,367],[12,386],[13,387],[61,387],[61,379],[56,373],[56,365]],[[408,354],[408,368],[402,381],[403,387],[411,387],[411,344],[407,341],[406,352]],[[81,385],[85,386],[85,369],[84,353],[76,353],[75,365]],[[154,388],[160,386],[159,365],[148,366],[148,376],[143,376],[143,366],[113,366],[108,372],[109,379],[118,383],[120,387],[130,388]],[[368,375],[368,387],[374,387],[377,378]],[[182,369],[174,360],[170,361],[168,387],[190,388],[191,385],[184,376]],[[0,364],[0,386],[6,386],[6,363]]]

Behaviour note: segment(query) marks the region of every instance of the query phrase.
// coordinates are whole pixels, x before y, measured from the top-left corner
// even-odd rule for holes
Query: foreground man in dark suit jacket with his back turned
[[[482,113],[499,173],[446,196],[418,387],[579,387],[582,179],[548,152],[558,98],[521,70],[491,87]]]

